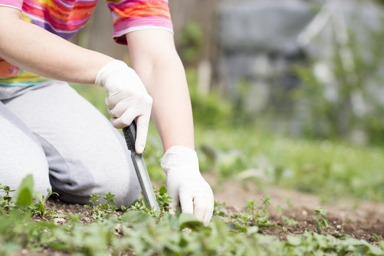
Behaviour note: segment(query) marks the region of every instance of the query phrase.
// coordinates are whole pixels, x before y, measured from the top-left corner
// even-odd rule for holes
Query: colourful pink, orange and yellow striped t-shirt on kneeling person
[[[106,0],[112,14],[113,38],[127,44],[125,34],[145,28],[173,31],[168,0]],[[0,0],[20,9],[23,20],[69,39],[90,19],[97,0]],[[21,70],[0,56],[0,85],[34,85],[47,78]]]

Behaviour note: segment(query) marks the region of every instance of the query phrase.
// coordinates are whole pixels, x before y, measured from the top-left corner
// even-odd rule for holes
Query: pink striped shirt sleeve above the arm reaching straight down
[[[107,0],[107,5],[112,15],[113,38],[117,43],[127,44],[125,34],[146,28],[174,32],[168,0]]]

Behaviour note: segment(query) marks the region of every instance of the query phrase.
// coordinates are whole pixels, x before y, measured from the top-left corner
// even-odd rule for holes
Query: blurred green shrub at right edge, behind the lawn
[[[366,29],[364,43],[349,31],[346,45],[336,43],[329,66],[331,80],[316,75],[316,61],[297,68],[302,86],[292,94],[304,110],[301,121],[304,133],[313,137],[341,137],[353,142],[384,142],[384,102],[380,92],[384,81],[384,21],[381,28]],[[346,68],[346,49],[351,65]],[[335,97],[326,95],[326,87]],[[296,113],[297,114],[297,113]],[[294,117],[296,118],[296,117]]]

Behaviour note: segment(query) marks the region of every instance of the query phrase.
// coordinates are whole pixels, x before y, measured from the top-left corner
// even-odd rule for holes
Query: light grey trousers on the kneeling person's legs
[[[0,86],[0,183],[16,189],[27,174],[35,191],[52,188],[67,203],[110,192],[117,206],[129,206],[140,192],[122,135],[68,83],[55,80]]]

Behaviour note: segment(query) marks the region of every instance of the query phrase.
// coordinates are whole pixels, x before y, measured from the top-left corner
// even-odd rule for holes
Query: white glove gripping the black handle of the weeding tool
[[[151,117],[152,98],[139,75],[121,60],[112,60],[97,73],[95,84],[104,87],[112,125],[127,127],[137,117],[135,151],[142,154]]]

